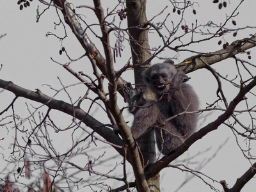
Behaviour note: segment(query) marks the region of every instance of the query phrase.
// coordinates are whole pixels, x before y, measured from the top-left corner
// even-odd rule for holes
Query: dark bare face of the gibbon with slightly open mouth
[[[166,72],[159,72],[153,74],[151,77],[151,83],[154,86],[154,89],[156,90],[156,93],[158,95],[169,92],[171,86],[170,80],[171,76]]]

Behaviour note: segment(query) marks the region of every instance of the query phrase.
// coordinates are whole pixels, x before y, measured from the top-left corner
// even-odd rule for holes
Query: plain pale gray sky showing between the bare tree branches
[[[73,3],[73,1],[70,2]],[[113,2],[115,3],[116,1]],[[148,1],[147,18],[151,19],[154,15],[160,13],[166,6],[166,4],[169,4],[168,2],[169,1],[159,1],[157,2],[156,6],[156,1]],[[76,1],[76,3],[86,4],[88,2]],[[232,4],[228,3],[226,9],[222,8],[221,10],[218,10],[218,6],[216,4],[212,4],[212,1],[198,1],[198,4],[200,6],[198,6],[197,4],[195,4],[194,6],[197,14],[193,15],[191,9],[191,13],[186,13],[186,19],[184,20],[184,22],[186,22],[186,24],[190,24],[191,22],[195,22],[195,20],[198,19],[199,24],[207,24],[207,22],[209,22],[210,20],[212,22],[220,24],[221,22],[225,21],[227,15],[230,15],[232,13],[232,10],[234,10],[234,7],[236,7],[238,3],[239,1],[232,1]],[[58,22],[55,10],[47,10],[40,18],[40,21],[36,23],[36,7],[38,6],[38,3],[35,0],[31,2],[31,6],[29,8],[25,8],[22,11],[19,10],[17,1],[2,0],[1,4],[2,5],[0,6],[0,17],[2,19],[0,20],[0,35],[6,33],[6,36],[1,38],[0,40],[0,64],[3,64],[3,68],[0,70],[0,79],[4,79],[5,81],[13,81],[13,83],[22,86],[23,88],[28,88],[29,90],[35,90],[36,88],[39,88],[43,93],[50,96],[54,94],[54,91],[49,89],[49,86],[43,86],[43,84],[49,84],[56,89],[60,89],[61,84],[57,77],[59,77],[61,83],[65,84],[66,86],[68,84],[77,83],[77,79],[75,77],[72,77],[63,67],[54,63],[51,60],[52,57],[53,60],[56,60],[60,63],[68,62],[67,57],[65,57],[64,55],[60,56],[58,54],[61,47],[61,42],[54,36],[45,36],[48,31],[51,31],[52,33],[57,33],[60,36],[64,35],[63,28],[58,27],[57,29],[54,29],[54,22]],[[89,2],[89,4],[92,4],[92,2]],[[241,8],[239,8],[239,15],[237,15],[236,17],[236,28],[256,26],[256,23],[254,21],[256,16],[254,10],[255,6],[255,1],[245,1],[242,4]],[[40,12],[42,12],[42,8],[43,6],[40,6]],[[81,9],[79,10],[79,13],[83,11],[84,10]],[[174,23],[179,20],[178,15],[172,13],[172,6],[170,5],[164,11],[164,13],[162,15],[159,15],[159,17],[157,17],[155,20],[161,21],[161,19],[163,19],[168,12],[171,13],[170,17],[173,18]],[[90,15],[92,14],[92,12],[84,14],[84,20],[92,20],[92,16]],[[172,24],[168,24],[170,24],[170,26],[168,27],[171,28]],[[234,26],[232,26],[232,24],[230,23],[228,24],[228,27],[232,28]],[[76,38],[72,36],[70,30],[67,29],[67,31],[68,38],[63,41],[63,45],[72,59],[79,58],[79,56],[84,54],[83,48],[77,42]],[[253,34],[253,31],[255,33],[255,29],[241,31],[241,33],[238,33],[236,38],[234,38],[232,35],[228,35],[225,36],[225,40],[231,43],[232,41],[237,39],[247,38],[251,33]],[[100,45],[99,40],[93,37],[92,40],[96,45]],[[161,39],[158,35],[150,35],[151,47],[157,47],[157,44],[159,44],[160,41]],[[189,49],[195,49],[195,51],[201,52],[218,51],[219,49],[222,49],[222,47],[221,45],[218,45],[217,42],[218,40],[214,39],[202,44],[191,45]],[[115,38],[113,38],[112,42],[112,45],[114,44]],[[126,46],[124,47],[124,52],[122,52],[122,58],[116,58],[116,68],[122,67],[131,56],[129,45],[125,45]],[[102,50],[101,47],[99,47],[99,49]],[[252,60],[250,61],[252,63],[255,63],[256,60],[253,57],[255,48],[251,49],[250,51],[252,54]],[[160,56],[174,57],[176,54],[176,52],[166,50]],[[175,63],[179,63],[180,61],[183,61],[185,58],[188,58],[192,55],[194,55],[194,53],[179,52],[179,54],[177,55],[178,60],[175,60]],[[239,54],[238,57],[246,59],[246,55]],[[157,63],[159,62],[159,60],[156,59],[152,62]],[[230,66],[234,66],[234,61],[225,60],[220,63],[216,63],[212,67],[216,68],[218,72],[221,72],[223,76],[228,75],[231,79],[231,77],[236,76],[236,70],[233,70],[233,67]],[[84,72],[91,70],[90,64],[85,58],[72,64],[72,68],[77,71],[82,70]],[[255,71],[253,72],[253,74],[255,75]],[[132,71],[124,74],[124,77],[125,79],[127,79],[127,81],[133,81],[131,79],[131,76]],[[198,93],[199,95],[200,108],[203,109],[205,108],[205,103],[211,103],[216,100],[217,84],[210,72],[203,69],[193,72],[189,74],[189,76],[191,77],[189,83],[193,86],[196,93]],[[227,85],[226,83],[223,84]],[[68,90],[72,93],[73,100],[77,100],[79,96],[85,93],[86,90],[81,91],[82,93],[77,92],[77,90],[82,90],[81,88],[83,89],[83,86],[74,86]],[[230,85],[227,85],[224,90],[227,94],[226,96],[228,102],[230,102],[230,100],[236,95],[237,90],[230,87]],[[253,92],[255,93],[255,89],[253,90]],[[13,94],[8,92],[0,94],[0,111],[8,104],[10,104],[13,97]],[[56,96],[56,99],[63,99],[67,102],[69,101],[65,92],[61,92],[60,94],[58,94]],[[22,116],[22,118],[26,118],[29,114],[26,110],[24,102],[31,102],[25,99],[20,99],[20,102],[22,102],[22,104],[17,104],[17,108],[15,110],[18,111],[19,115]],[[84,104],[84,108],[88,108],[88,106]],[[206,119],[205,121],[201,118],[200,122],[198,122],[198,129],[214,120],[216,116],[220,115],[221,113],[216,112],[213,115],[209,114],[210,113],[205,113],[205,116],[203,116]],[[1,118],[2,117],[0,117],[0,120]],[[128,117],[127,115],[127,118],[131,121],[131,116]],[[71,118],[68,118],[68,120],[71,120]],[[59,121],[61,124],[61,119]],[[103,119],[102,121],[104,122],[107,120]],[[4,133],[7,134],[6,130],[4,131]],[[12,139],[12,131],[5,137]],[[65,135],[65,137],[68,138],[68,135]],[[3,138],[3,136],[0,136],[0,138]],[[0,141],[0,146],[3,147],[5,145],[5,147],[8,147],[8,140],[6,138]],[[236,179],[238,177],[241,177],[241,175],[243,175],[243,173],[248,170],[248,168],[250,167],[250,163],[243,157],[241,150],[239,150],[236,145],[236,138],[234,138],[232,132],[227,127],[221,125],[221,127],[217,131],[207,134],[207,136],[205,136],[202,140],[196,142],[195,145],[193,145],[189,149],[189,152],[184,154],[179,159],[186,159],[186,157],[188,156],[195,156],[195,154],[198,154],[198,152],[207,150],[207,152],[205,152],[204,154],[199,154],[198,158],[195,159],[198,161],[206,161],[207,157],[211,157],[216,152],[216,150],[218,150],[220,145],[222,145],[227,140],[227,138],[229,138],[227,144],[220,149],[220,152],[218,152],[216,156],[212,157],[212,161],[208,163],[204,168],[202,168],[200,172],[203,172],[205,173],[205,175],[209,175],[212,179],[218,181],[224,179],[227,181],[228,186],[231,187],[236,182]],[[58,142],[60,143],[58,144]],[[241,142],[243,141],[241,140]],[[62,147],[61,141],[56,141],[56,143],[57,146]],[[211,150],[208,150],[209,148],[211,148]],[[8,152],[6,153],[6,150],[4,151],[2,148],[0,148],[0,153],[3,152],[6,155],[5,157],[8,157],[10,155],[8,154]],[[176,161],[175,163],[180,162]],[[198,164],[194,166],[193,163],[194,162],[191,162],[191,164],[189,164],[189,167],[196,168]],[[5,166],[3,159],[1,158],[0,164]],[[1,167],[1,165],[0,172],[4,168]],[[180,170],[175,170],[174,168],[164,169],[163,172],[161,172],[161,188],[163,188],[163,191],[175,191],[175,189],[179,187],[179,185],[182,183],[182,180],[184,180],[185,175],[189,177],[191,174],[182,173],[180,172]],[[0,177],[2,176],[3,175],[0,175]],[[191,182],[195,184],[191,184]],[[221,190],[220,184],[213,183],[212,185]],[[193,186],[193,188],[191,188],[191,186]],[[256,182],[255,180],[251,180],[248,184],[246,184],[246,187],[243,189],[243,191],[252,191],[252,189],[255,188]],[[189,184],[182,188],[181,191],[210,191],[210,189],[209,186],[206,186],[200,179],[194,178],[190,181]]]

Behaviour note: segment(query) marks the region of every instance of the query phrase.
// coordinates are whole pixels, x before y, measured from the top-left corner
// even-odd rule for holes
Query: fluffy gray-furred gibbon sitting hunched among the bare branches
[[[136,95],[133,106],[129,102],[130,111],[134,114],[131,127],[132,136],[137,139],[143,132],[154,125],[161,125],[173,115],[198,110],[198,99],[189,84],[184,72],[178,72],[172,62],[159,63],[143,73],[145,85],[156,93],[156,101],[141,99],[141,93]],[[135,95],[130,92],[130,95]],[[143,102],[141,102],[143,101]],[[137,107],[134,107],[137,106]],[[197,114],[184,114],[166,122],[164,127],[156,127],[156,143],[165,155],[179,147],[186,138],[195,132]]]

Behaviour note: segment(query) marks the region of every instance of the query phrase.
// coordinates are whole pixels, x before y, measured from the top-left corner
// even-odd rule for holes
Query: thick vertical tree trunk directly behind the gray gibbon
[[[127,20],[130,33],[130,43],[132,52],[132,63],[134,65],[134,78],[136,85],[142,84],[141,72],[147,65],[139,66],[136,64],[144,63],[150,58],[150,49],[148,45],[148,31],[143,30],[144,24],[147,22],[146,17],[146,0],[127,0]],[[141,139],[140,150],[143,158],[141,158],[143,166],[148,166],[156,162],[156,145],[154,140],[154,132],[150,132]],[[159,174],[155,177],[147,179],[148,186],[151,191],[160,191]]]

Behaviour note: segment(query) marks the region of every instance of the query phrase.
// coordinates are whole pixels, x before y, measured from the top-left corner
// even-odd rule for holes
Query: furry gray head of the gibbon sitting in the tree
[[[157,63],[143,72],[143,80],[146,85],[150,86],[152,92],[157,95],[168,93],[173,77],[177,74],[177,69],[173,61]]]

